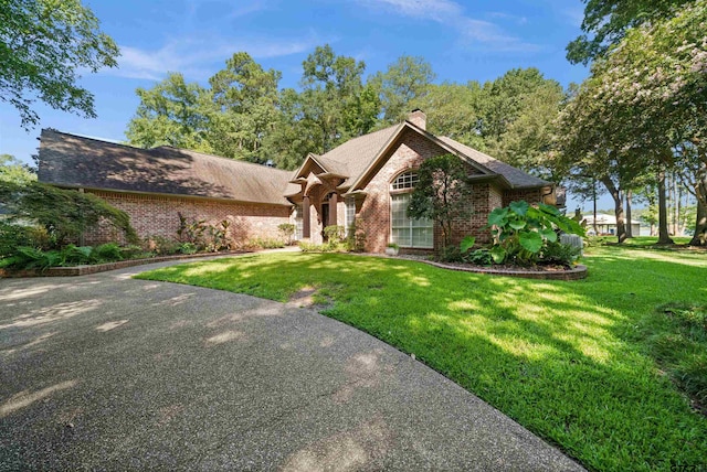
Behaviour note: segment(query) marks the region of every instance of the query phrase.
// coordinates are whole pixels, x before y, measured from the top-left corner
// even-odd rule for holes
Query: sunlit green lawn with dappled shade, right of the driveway
[[[339,254],[139,277],[278,301],[314,287],[326,315],[414,353],[589,469],[707,470],[707,418],[680,390],[705,391],[707,254],[601,246],[584,262],[576,282]]]

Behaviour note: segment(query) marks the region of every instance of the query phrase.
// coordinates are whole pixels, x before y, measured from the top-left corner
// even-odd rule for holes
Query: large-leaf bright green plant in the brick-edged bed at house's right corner
[[[584,229],[562,215],[557,207],[544,203],[531,206],[525,201],[495,208],[488,215],[494,236],[490,255],[496,264],[521,266],[537,262],[542,248],[558,239],[557,230],[583,236]]]

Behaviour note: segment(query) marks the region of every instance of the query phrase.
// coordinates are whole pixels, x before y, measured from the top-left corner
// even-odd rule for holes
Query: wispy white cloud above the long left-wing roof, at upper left
[[[191,79],[205,79],[219,71],[236,52],[245,51],[253,58],[279,57],[312,50],[318,40],[171,40],[158,50],[120,46],[118,67],[104,74],[127,78],[162,79],[168,72],[180,72]]]

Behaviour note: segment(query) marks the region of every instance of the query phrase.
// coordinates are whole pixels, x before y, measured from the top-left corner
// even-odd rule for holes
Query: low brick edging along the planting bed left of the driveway
[[[193,259],[199,257],[230,256],[238,254],[247,254],[245,250],[231,250],[224,253],[201,253],[201,254],[182,254],[179,256],[159,256],[148,259],[129,259],[117,260],[108,264],[94,264],[91,266],[73,266],[73,267],[50,267],[46,270],[7,270],[0,269],[0,278],[20,278],[20,277],[76,277],[87,276],[89,273],[106,272],[108,270],[125,269],[127,267],[144,266],[146,264],[163,262],[166,260]]]

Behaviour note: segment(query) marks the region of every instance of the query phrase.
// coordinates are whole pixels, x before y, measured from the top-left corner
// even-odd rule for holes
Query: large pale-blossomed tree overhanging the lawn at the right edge
[[[593,64],[564,115],[566,124],[574,122],[563,128],[566,139],[580,144],[574,152],[599,149],[633,161],[627,167],[658,173],[664,242],[666,171],[676,172],[699,204],[707,203],[700,192],[707,178],[706,21],[707,1],[696,0],[673,18],[627,31]]]

